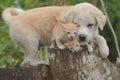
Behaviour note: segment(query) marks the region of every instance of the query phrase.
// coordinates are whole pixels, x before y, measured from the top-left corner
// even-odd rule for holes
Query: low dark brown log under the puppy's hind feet
[[[53,80],[50,67],[39,65],[29,68],[0,68],[0,80]]]

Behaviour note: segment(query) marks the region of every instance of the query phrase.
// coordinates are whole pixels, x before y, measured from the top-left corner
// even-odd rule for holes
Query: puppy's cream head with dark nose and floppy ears
[[[89,3],[81,3],[73,6],[66,13],[65,19],[68,22],[77,24],[78,37],[81,42],[90,41],[98,33],[98,28],[103,30],[106,23],[104,14]]]

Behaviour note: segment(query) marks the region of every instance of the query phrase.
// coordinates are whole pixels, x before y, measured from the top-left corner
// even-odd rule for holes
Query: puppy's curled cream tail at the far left
[[[12,20],[20,13],[22,13],[22,9],[17,8],[7,8],[2,13],[2,18],[6,24],[11,24]]]

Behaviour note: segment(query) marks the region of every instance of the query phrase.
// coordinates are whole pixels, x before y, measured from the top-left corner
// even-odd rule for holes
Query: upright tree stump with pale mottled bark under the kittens
[[[49,49],[49,61],[54,80],[120,80],[120,72],[103,59],[99,50],[72,53],[69,50]]]

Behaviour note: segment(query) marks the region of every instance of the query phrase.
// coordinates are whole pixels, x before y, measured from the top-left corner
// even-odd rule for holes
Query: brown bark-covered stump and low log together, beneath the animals
[[[120,80],[120,58],[117,65],[103,59],[98,48],[72,53],[48,49],[50,66],[0,68],[0,80]]]

